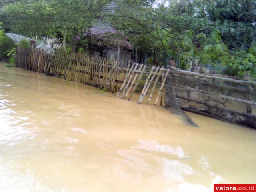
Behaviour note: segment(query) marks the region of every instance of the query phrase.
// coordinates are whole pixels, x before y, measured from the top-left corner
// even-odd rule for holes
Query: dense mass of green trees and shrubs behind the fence
[[[0,26],[68,51],[104,56],[121,46],[136,62],[173,60],[184,70],[244,77],[256,76],[255,7],[255,0],[5,0]],[[0,32],[0,54],[12,48]]]

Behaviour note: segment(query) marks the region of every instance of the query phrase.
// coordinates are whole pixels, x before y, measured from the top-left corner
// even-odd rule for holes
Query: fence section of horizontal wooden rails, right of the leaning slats
[[[166,94],[175,95],[183,110],[256,128],[255,81],[170,67]]]

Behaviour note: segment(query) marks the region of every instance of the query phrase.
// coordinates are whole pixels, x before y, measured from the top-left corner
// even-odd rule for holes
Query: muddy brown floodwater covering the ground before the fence
[[[256,183],[256,130],[0,64],[1,192],[211,192]]]

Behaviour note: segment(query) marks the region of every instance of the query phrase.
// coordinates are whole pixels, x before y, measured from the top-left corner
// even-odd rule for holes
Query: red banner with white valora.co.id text
[[[256,184],[214,184],[214,192],[256,192]]]

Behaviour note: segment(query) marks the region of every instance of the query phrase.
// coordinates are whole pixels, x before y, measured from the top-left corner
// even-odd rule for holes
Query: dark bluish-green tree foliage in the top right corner
[[[195,0],[194,4],[199,8],[198,17],[208,21],[202,26],[204,32],[220,30],[230,50],[248,50],[256,38],[255,0]]]

